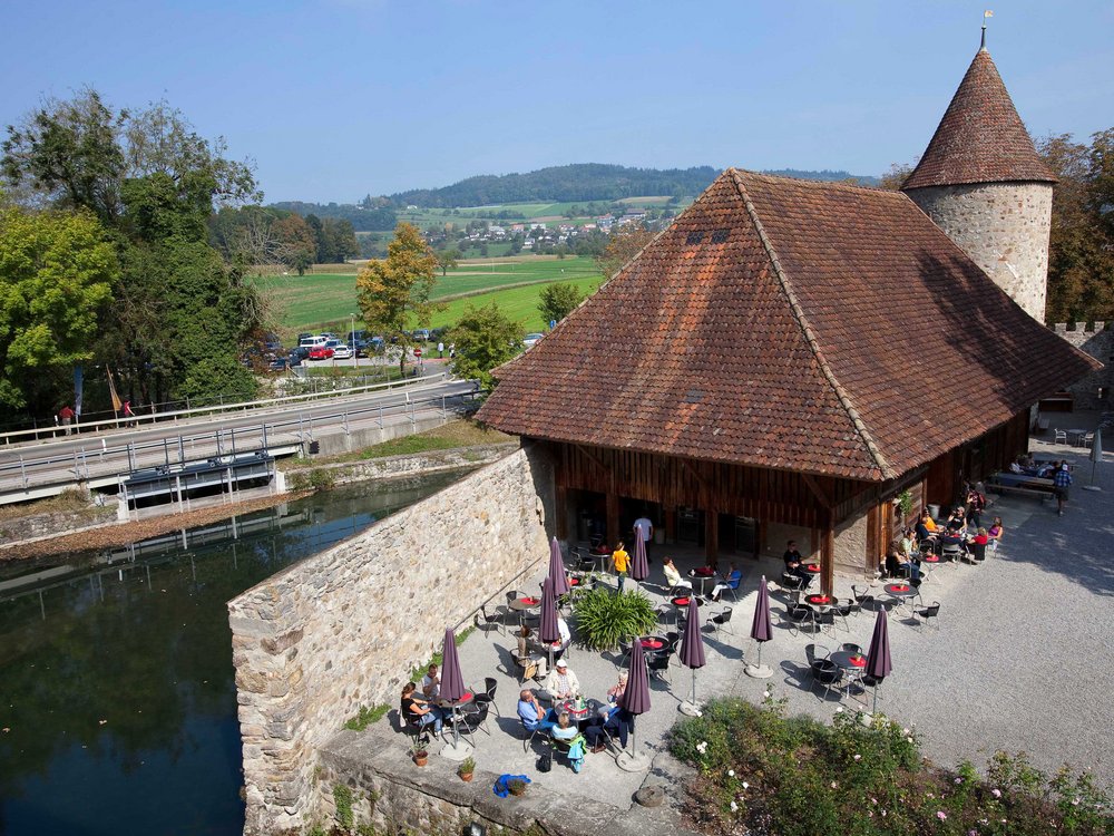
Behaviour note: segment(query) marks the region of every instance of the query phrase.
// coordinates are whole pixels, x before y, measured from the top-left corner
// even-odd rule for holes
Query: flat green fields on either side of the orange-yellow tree
[[[287,336],[326,322],[346,325],[350,314],[360,312],[354,271],[257,276],[253,281],[270,295]],[[537,312],[541,289],[563,281],[586,291],[599,284],[603,276],[587,257],[526,256],[463,263],[448,275],[437,278],[431,299],[448,302],[449,307],[434,315],[432,327],[455,323],[469,303],[482,305],[494,301],[511,318],[524,320],[528,331],[539,330],[544,324]],[[358,322],[359,319],[356,315]]]

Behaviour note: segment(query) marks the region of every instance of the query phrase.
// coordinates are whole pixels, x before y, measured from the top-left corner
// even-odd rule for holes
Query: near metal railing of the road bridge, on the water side
[[[463,381],[462,381],[463,382]],[[345,432],[356,422],[369,420],[385,426],[388,418],[408,416],[411,425],[417,424],[418,412],[439,409],[444,417],[450,411],[465,411],[475,397],[476,389],[457,393],[427,393],[414,397],[413,389],[400,390],[405,400],[392,404],[352,405],[326,415],[303,415],[253,424],[246,427],[206,430],[203,432],[178,434],[150,441],[129,441],[109,445],[101,437],[100,445],[80,447],[66,454],[42,456],[19,455],[16,461],[0,464],[0,496],[13,490],[45,484],[87,482],[89,479],[115,477],[145,467],[157,467],[204,458],[207,455],[236,455],[255,450],[271,450],[302,445],[314,438],[315,429],[323,425],[339,426]],[[65,478],[58,478],[60,472]],[[50,474],[55,478],[50,478]]]

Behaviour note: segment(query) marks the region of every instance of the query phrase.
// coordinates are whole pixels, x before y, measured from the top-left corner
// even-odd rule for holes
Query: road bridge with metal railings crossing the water
[[[169,500],[271,479],[286,456],[356,449],[469,409],[475,381],[447,373],[343,392],[147,415],[137,426],[82,425],[80,435],[0,436],[0,505],[68,488]],[[38,436],[41,436],[41,430]]]

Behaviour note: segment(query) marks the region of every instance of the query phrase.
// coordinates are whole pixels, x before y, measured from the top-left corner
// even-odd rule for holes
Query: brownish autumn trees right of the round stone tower
[[[1114,128],[1088,147],[1069,134],[1037,152],[1058,178],[1053,192],[1046,321],[1114,319]]]

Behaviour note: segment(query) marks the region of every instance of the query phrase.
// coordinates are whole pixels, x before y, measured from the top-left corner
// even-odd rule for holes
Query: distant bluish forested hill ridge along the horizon
[[[847,172],[804,172],[793,168],[768,173],[803,179],[838,181],[854,177]],[[442,188],[399,192],[391,195],[390,200],[397,206],[451,208],[538,201],[617,201],[645,195],[688,197],[707,188],[719,174],[720,169],[710,165],[657,169],[582,163],[540,168],[527,174],[469,177]],[[874,177],[854,179],[867,185],[878,182]]]

